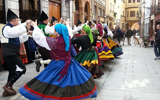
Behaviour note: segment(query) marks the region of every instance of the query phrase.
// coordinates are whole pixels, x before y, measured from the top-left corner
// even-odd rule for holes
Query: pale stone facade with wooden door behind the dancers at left
[[[48,16],[54,16],[58,20],[62,17],[72,22],[72,0],[0,0],[0,23],[6,23],[7,10],[15,12],[21,22],[27,19],[38,19],[42,10]]]

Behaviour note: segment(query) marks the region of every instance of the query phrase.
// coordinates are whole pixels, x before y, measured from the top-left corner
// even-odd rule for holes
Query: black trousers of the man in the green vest
[[[51,59],[49,51],[46,48],[39,47],[38,51],[41,54],[41,57],[42,57],[43,60]],[[45,64],[44,67],[47,67],[47,64]]]

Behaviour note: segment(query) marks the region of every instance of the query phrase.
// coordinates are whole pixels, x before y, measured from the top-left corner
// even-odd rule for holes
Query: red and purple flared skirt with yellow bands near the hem
[[[113,60],[114,55],[112,51],[108,48],[108,46],[103,42],[103,46],[101,42],[97,42],[98,55],[101,61]]]

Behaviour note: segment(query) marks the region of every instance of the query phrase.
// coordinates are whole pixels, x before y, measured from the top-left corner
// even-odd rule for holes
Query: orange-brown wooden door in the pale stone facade
[[[49,2],[49,16],[54,16],[58,21],[60,19],[61,5],[55,2]]]

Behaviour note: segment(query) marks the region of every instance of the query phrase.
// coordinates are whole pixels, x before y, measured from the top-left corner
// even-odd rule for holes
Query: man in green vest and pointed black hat
[[[54,28],[47,25],[48,24],[48,16],[47,14],[42,11],[42,14],[40,16],[40,25],[38,26],[41,29],[41,32],[46,36],[49,37],[50,35],[54,34]],[[41,57],[43,60],[51,59],[49,51],[43,47],[38,48],[39,53],[41,54]],[[40,64],[39,61],[35,62],[36,65]],[[45,65],[46,67],[47,65]],[[39,68],[36,67],[37,72]]]

